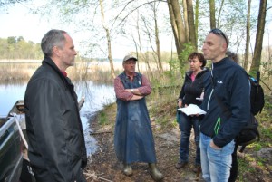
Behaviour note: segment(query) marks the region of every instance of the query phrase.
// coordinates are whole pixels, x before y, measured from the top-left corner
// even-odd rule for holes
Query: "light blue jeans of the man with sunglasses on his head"
[[[201,168],[205,181],[228,182],[234,149],[232,140],[220,149],[209,147],[211,138],[200,133]]]

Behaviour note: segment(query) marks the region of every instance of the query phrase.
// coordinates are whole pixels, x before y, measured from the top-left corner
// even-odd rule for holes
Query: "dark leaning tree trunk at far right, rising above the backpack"
[[[256,42],[255,42],[255,48],[254,48],[254,56],[252,59],[250,70],[249,70],[250,73],[257,73],[257,71],[259,71],[260,62],[261,62],[263,37],[265,32],[266,15],[267,15],[267,0],[262,0],[259,3]]]

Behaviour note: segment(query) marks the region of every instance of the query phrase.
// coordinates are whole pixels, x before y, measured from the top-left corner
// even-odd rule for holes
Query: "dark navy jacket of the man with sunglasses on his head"
[[[204,78],[205,93],[201,108],[206,110],[207,114],[200,121],[199,128],[203,134],[213,138],[215,145],[221,148],[235,139],[249,120],[248,74],[228,58],[213,63],[211,73]],[[216,97],[222,101],[225,108],[219,105]],[[224,110],[226,108],[231,116],[228,116],[228,111]]]

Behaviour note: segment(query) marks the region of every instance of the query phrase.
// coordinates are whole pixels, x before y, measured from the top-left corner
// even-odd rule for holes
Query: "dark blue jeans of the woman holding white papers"
[[[180,162],[188,162],[189,158],[189,136],[191,128],[194,129],[196,143],[196,160],[195,164],[200,165],[200,148],[199,148],[199,118],[190,117],[180,113]]]

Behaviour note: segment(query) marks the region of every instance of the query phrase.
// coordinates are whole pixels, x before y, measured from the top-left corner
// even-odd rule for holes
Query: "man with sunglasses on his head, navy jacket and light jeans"
[[[250,116],[249,83],[245,70],[226,57],[228,36],[212,29],[202,51],[212,61],[201,105],[207,111],[200,121],[200,153],[205,181],[228,181],[234,139]]]

